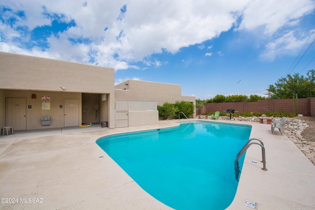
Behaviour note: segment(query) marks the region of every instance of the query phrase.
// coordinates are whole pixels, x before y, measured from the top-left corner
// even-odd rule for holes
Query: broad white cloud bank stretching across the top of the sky
[[[125,4],[126,12],[121,15]],[[2,17],[18,20],[13,26],[0,23],[1,51],[89,62],[116,70],[139,68],[130,65],[136,61],[160,66],[160,61],[150,60],[152,54],[175,54],[182,47],[216,38],[233,26],[246,31],[263,28],[263,33],[271,37],[284,26],[297,26],[299,19],[315,8],[312,0],[200,0],[198,3],[194,0],[87,0],[86,3],[76,0],[0,0],[0,5],[12,9]],[[18,17],[16,11],[24,11],[26,17]],[[28,49],[15,42],[16,37],[28,42],[30,32],[36,27],[50,26],[54,15],[65,22],[74,21],[76,25],[60,32],[58,37],[51,35],[47,50],[43,52],[39,46]],[[119,20],[118,17],[124,18]],[[240,17],[241,22],[238,22]],[[28,28],[29,33],[24,34],[18,27]],[[91,42],[73,44],[69,38],[86,38]],[[286,34],[271,40],[266,45],[268,52],[276,55],[280,52],[276,46],[294,47],[289,39]],[[296,44],[300,41],[296,37]],[[205,46],[198,47],[203,49]],[[212,45],[208,49],[212,49]]]

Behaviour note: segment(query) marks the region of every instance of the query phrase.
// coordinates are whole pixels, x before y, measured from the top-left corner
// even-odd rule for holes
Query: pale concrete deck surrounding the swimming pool
[[[262,139],[266,148],[268,171],[261,170],[261,148],[248,149],[229,210],[251,210],[246,200],[257,203],[258,210],[315,209],[315,166],[288,137],[273,135],[267,124],[216,121],[252,125],[251,138]],[[139,187],[95,141],[174,125],[176,120],[166,120],[142,127],[95,125],[0,136],[0,198],[11,202],[1,200],[0,209],[171,209]]]

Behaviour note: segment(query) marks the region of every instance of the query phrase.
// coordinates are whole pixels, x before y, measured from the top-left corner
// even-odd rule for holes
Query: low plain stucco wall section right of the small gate
[[[158,124],[158,110],[129,111],[129,127]]]

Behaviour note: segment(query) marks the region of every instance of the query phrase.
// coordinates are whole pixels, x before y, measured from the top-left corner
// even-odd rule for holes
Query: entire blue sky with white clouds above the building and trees
[[[200,99],[306,75],[314,40],[315,0],[0,0],[2,52],[113,67],[115,84]]]

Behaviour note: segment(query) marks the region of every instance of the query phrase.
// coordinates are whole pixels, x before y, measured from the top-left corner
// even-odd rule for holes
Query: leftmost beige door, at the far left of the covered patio
[[[7,98],[5,124],[14,130],[26,130],[26,98]]]

